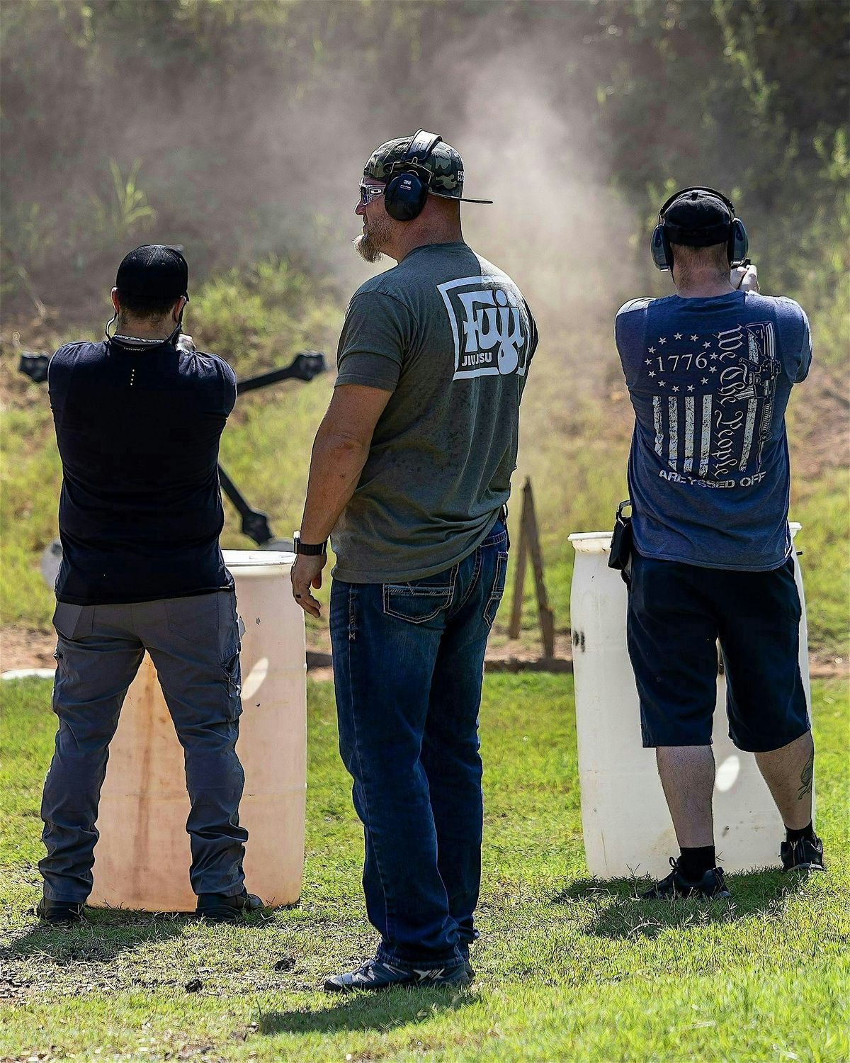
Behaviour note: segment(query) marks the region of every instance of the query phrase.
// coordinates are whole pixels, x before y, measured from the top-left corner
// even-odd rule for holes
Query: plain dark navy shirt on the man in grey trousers
[[[62,457],[60,602],[151,602],[233,586],[219,549],[219,439],[236,376],[214,354],[68,343],[48,371]]]

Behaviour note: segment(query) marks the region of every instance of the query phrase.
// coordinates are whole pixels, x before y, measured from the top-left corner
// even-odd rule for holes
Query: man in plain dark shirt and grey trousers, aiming
[[[181,336],[188,267],[175,249],[132,251],[112,298],[116,334],[66,344],[48,371],[63,561],[38,914],[82,917],[108,744],[148,651],[186,754],[198,912],[234,919],[260,905],[242,873],[240,622],[219,549],[219,439],[236,377]]]

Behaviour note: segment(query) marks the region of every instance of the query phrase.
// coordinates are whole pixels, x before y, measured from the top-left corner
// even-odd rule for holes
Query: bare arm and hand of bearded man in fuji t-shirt
[[[357,487],[375,425],[390,395],[390,391],[360,384],[342,384],[334,389],[312,444],[301,521],[303,542],[324,542],[334,530]],[[322,586],[326,560],[324,555],[299,555],[292,567],[292,593],[299,605],[313,617],[320,615],[320,605],[310,594],[310,587]]]

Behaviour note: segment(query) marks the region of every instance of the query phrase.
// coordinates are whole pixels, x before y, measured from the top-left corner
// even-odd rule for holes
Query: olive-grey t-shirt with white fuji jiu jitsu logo
[[[332,535],[338,579],[420,579],[486,538],[510,494],[537,342],[520,289],[462,242],[415,248],[357,289],[337,387],[392,395]]]

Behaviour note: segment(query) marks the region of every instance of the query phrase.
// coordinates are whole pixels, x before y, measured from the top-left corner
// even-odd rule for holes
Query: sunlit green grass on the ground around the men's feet
[[[0,1058],[811,1060],[850,1056],[844,684],[816,682],[818,829],[827,876],[733,876],[734,902],[639,904],[588,881],[572,679],[490,676],[481,710],[486,841],[471,991],[336,999],[328,972],[368,956],[362,836],[336,750],[333,690],[309,689],[301,902],[266,924],[95,912],[39,928],[38,799],[50,685],[0,685],[4,944]],[[291,957],[290,971],[275,963]],[[185,989],[200,978],[197,993]]]

